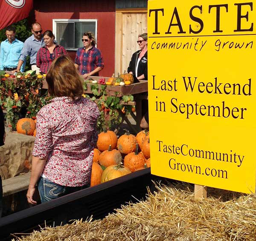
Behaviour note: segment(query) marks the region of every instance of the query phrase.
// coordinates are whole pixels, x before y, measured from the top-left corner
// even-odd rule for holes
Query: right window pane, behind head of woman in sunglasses
[[[83,47],[81,41],[84,32],[92,32],[95,36],[96,23],[95,22],[77,22],[75,23],[75,48]]]

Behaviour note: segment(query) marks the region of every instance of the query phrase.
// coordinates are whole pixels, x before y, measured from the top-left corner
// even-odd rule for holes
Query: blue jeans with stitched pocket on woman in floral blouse
[[[55,198],[82,190],[89,186],[89,184],[84,186],[62,186],[43,177],[40,177],[38,180],[38,191],[40,194],[41,203],[51,201]]]

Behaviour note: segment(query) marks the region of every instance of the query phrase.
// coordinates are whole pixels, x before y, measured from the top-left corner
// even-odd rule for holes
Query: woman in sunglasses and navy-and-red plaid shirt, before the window
[[[96,41],[91,32],[83,34],[82,42],[84,47],[76,52],[75,66],[80,75],[86,79],[89,75],[99,76],[99,71],[104,68],[102,53],[95,47]]]

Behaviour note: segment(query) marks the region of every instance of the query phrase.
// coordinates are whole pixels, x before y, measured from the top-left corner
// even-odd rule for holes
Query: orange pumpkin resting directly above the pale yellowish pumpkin
[[[109,149],[107,151],[102,152],[102,154],[99,155],[99,164],[102,166],[111,166],[116,165],[122,161],[122,155],[121,153],[113,149],[111,151],[111,146],[109,146]]]

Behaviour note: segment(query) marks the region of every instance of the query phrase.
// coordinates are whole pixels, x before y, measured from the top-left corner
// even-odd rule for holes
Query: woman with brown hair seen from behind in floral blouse
[[[37,114],[30,204],[36,204],[36,183],[42,203],[88,187],[97,141],[99,109],[81,97],[82,81],[70,57],[55,59],[46,80],[49,95],[55,98]]]

